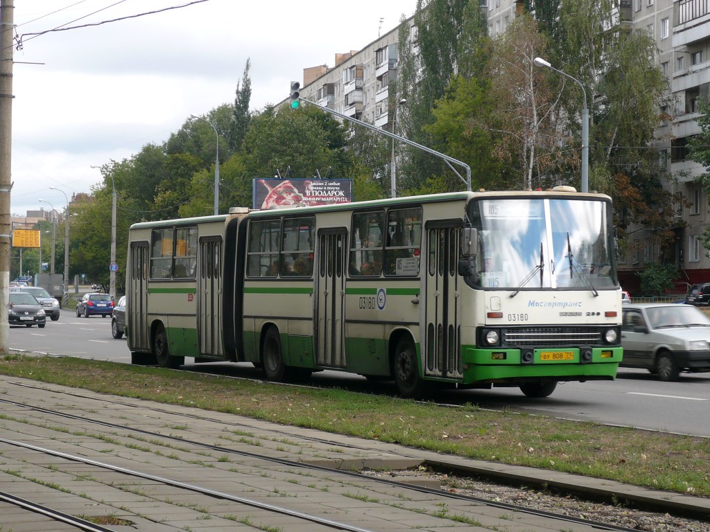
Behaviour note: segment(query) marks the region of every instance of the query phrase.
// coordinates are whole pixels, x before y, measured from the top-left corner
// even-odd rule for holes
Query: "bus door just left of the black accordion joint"
[[[222,350],[222,238],[200,238],[197,270],[197,341],[200,355],[223,357]]]

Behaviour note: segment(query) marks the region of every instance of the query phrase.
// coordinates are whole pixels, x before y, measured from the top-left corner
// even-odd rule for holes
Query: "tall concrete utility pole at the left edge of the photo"
[[[9,353],[10,169],[12,157],[13,0],[0,0],[0,353]]]

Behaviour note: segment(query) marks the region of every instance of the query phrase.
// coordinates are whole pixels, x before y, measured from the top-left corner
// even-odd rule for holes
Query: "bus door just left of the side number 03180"
[[[315,292],[315,350],[319,366],[346,367],[344,349],[346,231],[320,232]]]

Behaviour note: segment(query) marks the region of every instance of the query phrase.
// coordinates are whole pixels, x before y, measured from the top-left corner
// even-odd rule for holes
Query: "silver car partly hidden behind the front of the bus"
[[[710,318],[687,304],[623,306],[622,367],[643,367],[663,381],[710,372]]]

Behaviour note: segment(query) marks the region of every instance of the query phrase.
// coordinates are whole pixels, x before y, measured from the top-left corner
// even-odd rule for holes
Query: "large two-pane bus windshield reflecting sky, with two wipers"
[[[604,201],[569,198],[473,200],[478,231],[474,282],[491,289],[618,286]]]

